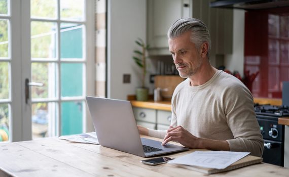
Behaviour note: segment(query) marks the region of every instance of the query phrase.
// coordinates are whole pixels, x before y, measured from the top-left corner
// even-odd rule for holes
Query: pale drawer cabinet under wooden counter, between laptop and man
[[[133,113],[138,125],[161,130],[169,128],[170,111],[133,107]]]

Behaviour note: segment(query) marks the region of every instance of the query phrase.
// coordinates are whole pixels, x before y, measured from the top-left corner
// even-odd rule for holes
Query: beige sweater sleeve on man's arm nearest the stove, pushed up
[[[264,142],[249,90],[244,85],[235,84],[225,92],[223,102],[227,123],[234,137],[227,140],[230,151],[250,152],[261,157]]]

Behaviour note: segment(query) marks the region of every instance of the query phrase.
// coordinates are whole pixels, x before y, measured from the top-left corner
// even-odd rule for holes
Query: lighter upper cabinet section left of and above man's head
[[[167,31],[175,20],[192,17],[192,0],[149,0],[147,15],[149,55],[170,55]]]

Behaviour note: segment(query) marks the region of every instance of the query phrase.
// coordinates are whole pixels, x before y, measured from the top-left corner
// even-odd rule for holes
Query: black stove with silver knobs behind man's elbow
[[[260,131],[264,139],[263,161],[284,166],[284,125],[279,117],[289,116],[288,106],[254,105]]]

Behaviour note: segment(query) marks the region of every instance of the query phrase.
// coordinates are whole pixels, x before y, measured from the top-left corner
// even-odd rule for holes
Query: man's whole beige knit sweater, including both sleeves
[[[181,125],[192,135],[227,140],[230,151],[262,156],[263,137],[254,112],[253,98],[236,77],[217,71],[206,83],[180,83],[172,96],[171,125]],[[149,135],[163,139],[165,130],[149,129]]]

